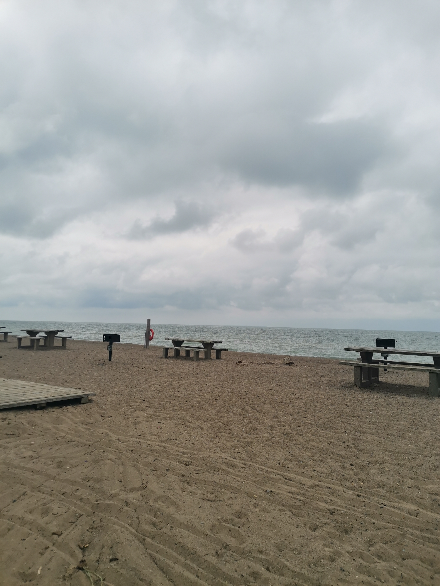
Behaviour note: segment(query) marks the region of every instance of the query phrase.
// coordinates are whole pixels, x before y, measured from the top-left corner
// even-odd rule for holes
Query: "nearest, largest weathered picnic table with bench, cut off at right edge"
[[[367,387],[370,384],[379,382],[379,369],[383,370],[413,370],[415,372],[425,372],[429,375],[429,395],[439,397],[440,384],[440,352],[427,352],[425,350],[402,350],[395,348],[381,347],[348,347],[344,348],[348,352],[359,352],[360,358],[357,360],[341,360],[339,364],[353,366],[354,386]],[[380,357],[373,359],[375,353],[380,353]],[[431,356],[434,364],[422,362],[402,362],[399,360],[388,360],[388,355],[398,354],[402,356]]]

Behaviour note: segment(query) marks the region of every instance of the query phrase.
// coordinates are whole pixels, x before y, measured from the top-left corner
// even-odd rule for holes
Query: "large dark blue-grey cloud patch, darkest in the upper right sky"
[[[222,159],[226,168],[256,183],[299,184],[346,195],[358,188],[378,159],[392,152],[385,128],[371,121],[286,120],[266,128],[259,122],[235,133]]]

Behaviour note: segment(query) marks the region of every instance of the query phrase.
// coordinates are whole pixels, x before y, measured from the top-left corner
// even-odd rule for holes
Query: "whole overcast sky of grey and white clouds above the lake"
[[[439,27],[0,0],[0,316],[440,329]]]

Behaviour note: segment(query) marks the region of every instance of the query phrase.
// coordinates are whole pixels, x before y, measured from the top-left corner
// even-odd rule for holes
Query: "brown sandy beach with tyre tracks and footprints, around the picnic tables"
[[[0,377],[96,396],[0,412],[0,584],[440,584],[426,375],[15,346]]]

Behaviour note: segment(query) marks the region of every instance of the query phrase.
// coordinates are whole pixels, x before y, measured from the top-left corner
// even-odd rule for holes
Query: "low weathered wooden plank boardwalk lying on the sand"
[[[81,403],[88,403],[93,391],[66,389],[51,384],[31,383],[23,380],[0,379],[0,409],[35,405],[46,407],[53,401],[66,401],[80,398]]]

